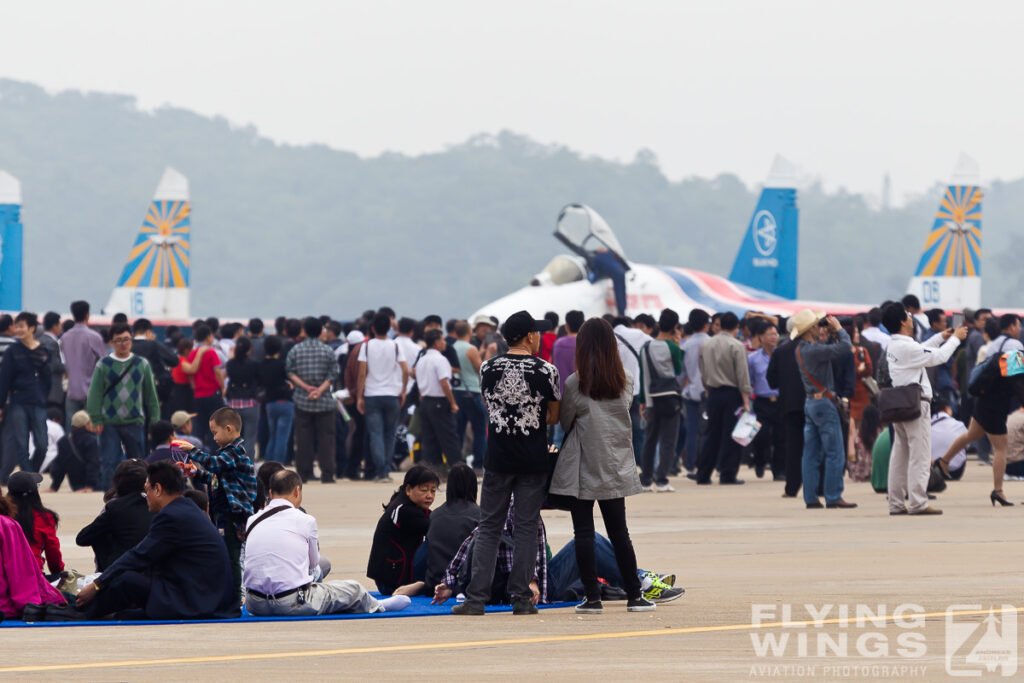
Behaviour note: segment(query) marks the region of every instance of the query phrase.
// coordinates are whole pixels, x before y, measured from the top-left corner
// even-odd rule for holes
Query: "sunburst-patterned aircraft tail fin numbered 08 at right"
[[[962,154],[907,288],[922,307],[981,306],[981,199],[978,163]]]

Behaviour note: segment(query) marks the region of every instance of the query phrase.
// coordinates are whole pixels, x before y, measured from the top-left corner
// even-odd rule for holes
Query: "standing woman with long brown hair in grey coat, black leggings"
[[[594,501],[615,551],[629,611],[650,611],[637,577],[637,557],[626,525],[626,497],[639,494],[633,457],[630,402],[633,383],[623,370],[615,335],[607,321],[594,317],[577,335],[577,372],[565,380],[561,425],[566,437],[551,479],[551,493],[571,497],[577,564],[587,599],[575,610],[602,611],[594,558]]]

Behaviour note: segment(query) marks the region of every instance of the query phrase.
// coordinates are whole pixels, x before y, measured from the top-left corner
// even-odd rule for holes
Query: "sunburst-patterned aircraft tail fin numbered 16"
[[[103,308],[105,314],[189,317],[190,214],[188,179],[167,168]]]

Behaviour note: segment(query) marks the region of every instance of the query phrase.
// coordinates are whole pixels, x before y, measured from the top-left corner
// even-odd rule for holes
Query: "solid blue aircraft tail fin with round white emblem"
[[[776,157],[729,280],[787,299],[797,298],[800,215],[797,171]]]

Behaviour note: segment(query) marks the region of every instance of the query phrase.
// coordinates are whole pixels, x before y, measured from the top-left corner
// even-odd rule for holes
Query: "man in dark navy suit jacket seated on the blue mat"
[[[47,609],[47,621],[103,618],[141,609],[151,620],[234,618],[241,614],[227,547],[210,518],[182,497],[171,462],[146,468],[150,532],[78,594],[77,608]]]

